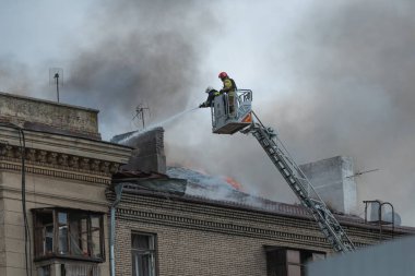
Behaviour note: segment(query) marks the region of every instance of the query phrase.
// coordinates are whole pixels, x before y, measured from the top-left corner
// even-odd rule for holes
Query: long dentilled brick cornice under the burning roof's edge
[[[114,194],[107,193],[107,199],[109,201],[114,201]],[[316,221],[313,219],[307,219],[295,216],[280,215],[273,213],[259,213],[256,211],[247,211],[247,209],[229,209],[227,207],[213,206],[209,204],[202,203],[189,203],[182,202],[179,200],[173,200],[171,197],[158,199],[152,196],[143,196],[137,194],[122,194],[121,204],[119,208],[128,211],[143,211],[143,212],[158,212],[164,214],[165,216],[176,216],[180,214],[180,216],[187,217],[206,217],[206,219],[220,219],[226,221],[245,221],[246,226],[257,225],[266,225],[264,229],[270,229],[272,227],[273,230],[282,231],[282,232],[290,232],[295,231],[296,235],[305,235],[305,236],[313,236],[313,237],[322,237],[320,229],[317,227]],[[122,217],[120,215],[120,217]],[[131,220],[131,218],[129,218]],[[144,221],[144,220],[142,220]],[[353,226],[343,226],[347,233],[353,238],[353,242],[356,247],[364,247],[368,244],[375,244],[379,240],[379,231],[375,231],[374,229],[365,228],[365,227],[353,227]],[[204,229],[204,228],[203,228]],[[254,232],[254,231],[253,231]],[[395,232],[396,237],[402,233]],[[389,231],[384,232],[384,239],[391,239],[392,233]],[[260,238],[260,236],[258,236]],[[325,247],[324,244],[320,244],[319,247]],[[327,247],[330,248],[328,243]]]

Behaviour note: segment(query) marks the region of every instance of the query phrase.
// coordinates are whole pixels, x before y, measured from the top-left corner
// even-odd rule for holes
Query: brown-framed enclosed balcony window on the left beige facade
[[[79,209],[33,209],[35,261],[71,257],[104,261],[103,214]]]

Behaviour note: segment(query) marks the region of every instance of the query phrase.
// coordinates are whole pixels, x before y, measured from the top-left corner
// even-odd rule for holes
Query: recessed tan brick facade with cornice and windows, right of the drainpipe
[[[298,205],[258,208],[152,190],[131,180],[123,184],[117,206],[116,275],[300,276],[307,262],[333,253]],[[115,199],[112,191],[107,196]],[[378,227],[358,217],[336,217],[356,247],[381,242]],[[382,240],[413,233],[413,228],[387,228]]]

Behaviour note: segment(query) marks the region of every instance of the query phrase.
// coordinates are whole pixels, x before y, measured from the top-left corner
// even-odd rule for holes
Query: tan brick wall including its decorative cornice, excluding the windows
[[[357,245],[378,242],[374,229],[345,228]],[[117,209],[117,275],[131,275],[131,232],[157,236],[158,276],[266,275],[264,245],[332,252],[310,218],[124,193]]]

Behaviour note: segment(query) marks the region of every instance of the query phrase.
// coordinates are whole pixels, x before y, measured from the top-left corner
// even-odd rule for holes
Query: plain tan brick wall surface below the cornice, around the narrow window
[[[264,250],[253,238],[133,221],[117,231],[117,275],[131,275],[131,231],[157,235],[159,276],[266,275]]]

